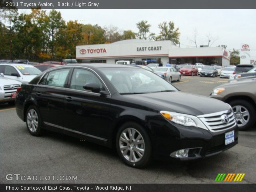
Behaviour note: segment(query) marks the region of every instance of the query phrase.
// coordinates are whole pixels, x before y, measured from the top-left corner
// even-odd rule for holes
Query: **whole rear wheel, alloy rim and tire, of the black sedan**
[[[33,136],[39,136],[42,133],[41,118],[35,106],[30,106],[27,110],[26,124],[28,131]]]

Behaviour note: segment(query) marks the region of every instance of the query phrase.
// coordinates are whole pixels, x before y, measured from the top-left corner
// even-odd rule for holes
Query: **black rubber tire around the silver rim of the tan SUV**
[[[256,121],[256,109],[252,106],[252,104],[250,104],[250,102],[246,100],[232,100],[229,102],[229,104],[232,106],[232,108],[238,105],[243,106],[249,112],[250,117],[248,122],[244,126],[238,126],[238,129],[240,131],[247,130],[248,128],[252,128],[254,126],[254,123]]]

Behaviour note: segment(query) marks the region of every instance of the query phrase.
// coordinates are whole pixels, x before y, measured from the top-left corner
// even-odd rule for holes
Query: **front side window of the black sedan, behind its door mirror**
[[[102,88],[102,83],[95,74],[85,69],[75,68],[72,74],[70,88],[84,90],[83,87],[87,83],[98,83],[100,88]]]

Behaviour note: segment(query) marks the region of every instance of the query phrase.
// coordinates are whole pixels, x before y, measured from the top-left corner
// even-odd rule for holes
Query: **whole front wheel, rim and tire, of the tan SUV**
[[[256,111],[252,104],[245,100],[234,100],[229,102],[234,111],[239,130],[252,128],[256,119]]]

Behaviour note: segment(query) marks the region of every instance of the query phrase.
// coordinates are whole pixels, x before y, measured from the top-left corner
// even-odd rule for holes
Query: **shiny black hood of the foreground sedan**
[[[181,91],[122,95],[129,102],[150,106],[154,110],[166,110],[194,116],[229,110],[224,102],[206,96]]]

